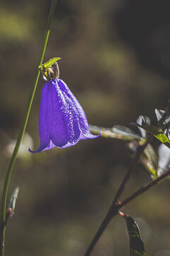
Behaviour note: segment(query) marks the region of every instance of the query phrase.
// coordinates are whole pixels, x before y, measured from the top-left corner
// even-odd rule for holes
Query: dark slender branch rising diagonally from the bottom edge
[[[103,221],[102,221],[101,225],[99,226],[96,234],[94,235],[94,238],[91,240],[91,243],[90,243],[88,249],[86,250],[86,253],[84,256],[90,255],[91,251],[94,249],[96,242],[101,237],[101,234],[105,230],[106,226],[108,225],[110,220],[113,218],[113,216],[117,214],[118,199],[120,198],[121,194],[123,193],[125,184],[127,183],[128,179],[130,178],[130,174],[132,174],[132,171],[134,171],[137,161],[139,161],[141,154],[143,153],[143,151],[145,150],[145,147],[151,140],[152,140],[152,136],[149,137],[149,139],[147,140],[147,142],[145,144],[138,147],[135,158],[132,161],[132,165],[130,166],[127,173],[125,174],[123,181],[120,183],[118,191],[115,193],[115,198],[113,199],[113,202],[112,202],[110,208],[108,209],[108,213],[106,213],[105,218],[103,218]]]

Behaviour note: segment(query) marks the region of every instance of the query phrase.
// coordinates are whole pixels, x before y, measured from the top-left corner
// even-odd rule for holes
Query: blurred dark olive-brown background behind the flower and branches
[[[33,82],[51,1],[0,4],[0,187]],[[170,97],[169,1],[59,0],[45,61],[61,57],[60,78],[84,107],[90,124],[130,127],[139,114]],[[40,78],[10,195],[20,187],[6,229],[8,256],[78,256],[84,252],[130,165],[125,143],[98,138],[67,149],[37,149]],[[134,128],[132,128],[134,129]],[[157,149],[158,142],[154,142]],[[139,166],[123,197],[150,181]],[[123,211],[140,225],[147,255],[170,255],[169,181]],[[115,217],[91,255],[129,255],[125,221]]]

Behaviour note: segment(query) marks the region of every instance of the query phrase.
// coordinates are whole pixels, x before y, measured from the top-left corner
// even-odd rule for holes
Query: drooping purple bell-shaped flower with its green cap
[[[59,78],[59,59],[53,58],[40,66],[47,82],[42,87],[40,100],[40,146],[36,151],[29,149],[31,153],[55,146],[65,148],[77,144],[81,139],[98,137],[91,134],[83,108],[66,83]]]

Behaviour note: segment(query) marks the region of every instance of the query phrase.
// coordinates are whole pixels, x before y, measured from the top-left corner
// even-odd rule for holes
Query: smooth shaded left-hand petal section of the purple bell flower
[[[66,129],[59,104],[55,81],[46,82],[42,87],[39,112],[40,146],[36,151],[52,149],[67,144]]]

